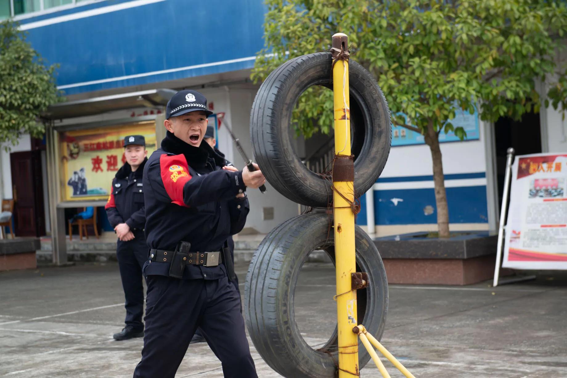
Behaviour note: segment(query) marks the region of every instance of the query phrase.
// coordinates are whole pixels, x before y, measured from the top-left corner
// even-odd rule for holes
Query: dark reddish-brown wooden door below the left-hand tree
[[[43,177],[40,151],[10,154],[14,233],[16,236],[45,235]]]

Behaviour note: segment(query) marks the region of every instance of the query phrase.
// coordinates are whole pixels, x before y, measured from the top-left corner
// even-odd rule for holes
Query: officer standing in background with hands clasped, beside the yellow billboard
[[[116,340],[143,336],[142,267],[147,260],[142,183],[143,167],[147,162],[145,138],[142,135],[124,138],[124,155],[126,163],[116,172],[104,206],[108,222],[118,236],[116,257],[126,298],[126,326],[113,335]]]

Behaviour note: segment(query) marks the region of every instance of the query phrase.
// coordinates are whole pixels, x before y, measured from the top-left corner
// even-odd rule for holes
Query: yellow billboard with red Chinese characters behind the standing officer
[[[124,165],[124,137],[143,135],[147,156],[156,149],[155,121],[60,134],[60,177],[63,201],[107,199],[112,179]]]

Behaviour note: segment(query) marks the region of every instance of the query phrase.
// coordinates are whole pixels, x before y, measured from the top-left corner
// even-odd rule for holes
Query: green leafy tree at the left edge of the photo
[[[41,113],[61,100],[55,79],[56,66],[46,66],[26,42],[18,24],[0,23],[0,143],[18,143],[22,134],[40,138],[45,126]]]

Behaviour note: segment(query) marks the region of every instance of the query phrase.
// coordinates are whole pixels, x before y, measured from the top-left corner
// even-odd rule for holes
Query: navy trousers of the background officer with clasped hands
[[[126,325],[142,330],[143,316],[143,275],[142,267],[147,261],[147,243],[142,230],[133,231],[134,239],[117,241],[116,257],[120,269],[120,278],[124,288]]]

